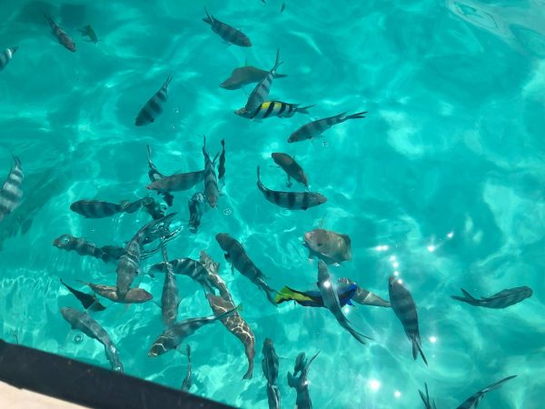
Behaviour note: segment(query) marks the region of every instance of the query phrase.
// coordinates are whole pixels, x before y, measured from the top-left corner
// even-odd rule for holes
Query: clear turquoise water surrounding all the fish
[[[138,3],[138,5],[135,5]],[[461,404],[505,376],[518,378],[486,396],[480,408],[542,407],[545,390],[545,3],[540,0],[463,3],[96,1],[51,5],[74,37],[73,54],[59,45],[36,6],[2,2],[0,48],[18,45],[0,73],[0,163],[11,154],[25,170],[22,204],[0,224],[1,335],[21,344],[109,367],[104,348],[74,331],[59,314],[81,305],[59,277],[114,284],[115,264],[56,249],[60,234],[97,245],[123,245],[149,220],[144,212],[84,219],[76,200],[135,200],[148,194],[145,145],[163,173],[201,169],[203,139],[212,155],[225,139],[226,186],[198,234],[185,229],[168,245],[174,257],[205,249],[222,263],[223,279],[242,303],[256,336],[252,381],[243,347],[221,324],[188,339],[192,392],[244,408],[265,408],[261,371],[265,337],[281,356],[282,404],[299,352],[321,351],[309,381],[317,408],[422,407],[426,382],[438,407]],[[203,5],[250,36],[251,48],[225,45],[202,21]],[[97,45],[77,27],[94,26]],[[233,115],[253,85],[219,85],[244,61],[270,69],[276,49],[286,78],[271,97],[316,106],[311,114],[248,121]],[[173,75],[165,112],[148,126],[134,117]],[[286,143],[312,119],[369,111],[312,142]],[[285,190],[272,152],[294,155],[325,205],[306,212],[265,201],[255,185]],[[301,185],[294,184],[292,190]],[[195,191],[193,189],[193,191]],[[173,211],[186,224],[191,192],[175,194]],[[155,196],[154,196],[155,197]],[[388,298],[398,272],[420,315],[422,348],[430,363],[411,358],[411,344],[389,309],[359,305],[353,326],[374,341],[358,344],[325,309],[282,304],[275,309],[238,272],[230,273],[215,234],[243,243],[270,284],[312,289],[302,235],[322,225],[349,234],[352,262],[331,267]],[[144,262],[159,262],[159,255]],[[159,300],[163,276],[137,284]],[[180,319],[211,314],[200,286],[178,277]],[[461,287],[475,295],[530,286],[534,294],[504,310],[451,300]],[[147,351],[162,332],[155,304],[104,301],[93,314],[112,335],[125,372],[179,387],[186,359]]]

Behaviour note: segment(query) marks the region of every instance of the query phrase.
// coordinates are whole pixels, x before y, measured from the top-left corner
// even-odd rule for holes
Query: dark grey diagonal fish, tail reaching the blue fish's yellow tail
[[[225,260],[231,264],[232,269],[237,269],[241,274],[248,278],[253,284],[257,285],[267,295],[267,299],[276,305],[273,294],[276,294],[269,284],[265,282],[267,276],[257,268],[253,261],[250,259],[243,244],[236,241],[231,235],[227,233],[216,234],[216,240],[222,250],[225,252]]]

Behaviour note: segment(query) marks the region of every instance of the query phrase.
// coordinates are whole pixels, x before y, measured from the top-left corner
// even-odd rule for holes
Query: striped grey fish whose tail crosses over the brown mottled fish
[[[240,305],[225,314],[203,316],[199,318],[190,318],[180,321],[168,327],[163,334],[159,335],[148,352],[148,356],[154,357],[176,349],[178,345],[189,335],[202,328],[204,325],[213,324],[216,321],[222,321],[223,318],[235,314],[240,309]]]

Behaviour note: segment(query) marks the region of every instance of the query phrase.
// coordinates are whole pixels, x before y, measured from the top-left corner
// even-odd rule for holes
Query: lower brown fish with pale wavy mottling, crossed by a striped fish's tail
[[[234,308],[233,302],[224,300],[217,295],[206,294],[206,299],[213,310],[213,314],[216,316],[225,314],[227,311],[232,311]],[[252,379],[253,357],[255,356],[255,335],[253,335],[252,328],[238,313],[223,318],[222,324],[243,343],[244,354],[246,354],[246,358],[248,359],[248,370],[244,374],[243,379]]]

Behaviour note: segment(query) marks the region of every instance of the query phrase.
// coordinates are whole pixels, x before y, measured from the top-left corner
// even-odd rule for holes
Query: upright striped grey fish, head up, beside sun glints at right
[[[421,354],[424,364],[428,364],[421,347],[421,336],[418,326],[418,314],[416,304],[412,295],[407,290],[399,278],[391,276],[388,280],[388,290],[390,293],[390,303],[393,312],[403,325],[405,334],[409,337],[412,344],[412,358],[416,359],[417,354]]]

